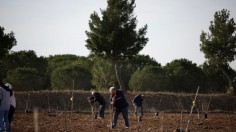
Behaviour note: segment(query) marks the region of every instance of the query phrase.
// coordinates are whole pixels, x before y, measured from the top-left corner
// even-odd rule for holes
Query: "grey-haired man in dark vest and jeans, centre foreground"
[[[110,91],[110,104],[112,105],[113,108],[111,128],[115,128],[120,113],[122,113],[123,115],[125,128],[129,128],[128,103],[126,101],[123,91],[117,90],[115,87],[111,87],[109,91]]]

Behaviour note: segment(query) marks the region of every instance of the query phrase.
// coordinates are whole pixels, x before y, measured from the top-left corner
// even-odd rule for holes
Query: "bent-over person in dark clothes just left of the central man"
[[[99,103],[98,119],[103,119],[105,107],[106,107],[106,101],[105,101],[104,97],[99,92],[92,91],[92,96],[94,97],[94,102]]]

